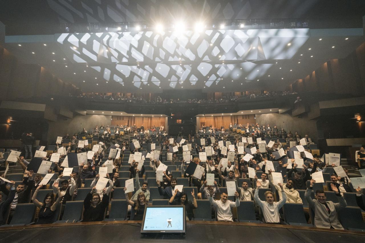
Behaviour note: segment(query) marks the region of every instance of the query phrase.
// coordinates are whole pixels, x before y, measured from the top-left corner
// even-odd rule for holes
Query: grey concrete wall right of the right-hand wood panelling
[[[308,134],[308,136],[317,142],[318,131],[315,120],[308,120],[306,117],[298,118],[292,117],[289,114],[256,114],[256,122],[260,125],[270,124],[271,127],[277,126],[278,128],[284,128],[285,131],[290,130],[292,134],[298,132],[302,137]]]

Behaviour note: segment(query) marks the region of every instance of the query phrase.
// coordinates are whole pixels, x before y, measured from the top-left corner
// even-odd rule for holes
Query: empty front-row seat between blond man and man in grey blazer
[[[284,221],[290,225],[300,225],[313,227],[308,224],[306,216],[304,215],[303,204],[300,203],[285,203],[283,206]]]

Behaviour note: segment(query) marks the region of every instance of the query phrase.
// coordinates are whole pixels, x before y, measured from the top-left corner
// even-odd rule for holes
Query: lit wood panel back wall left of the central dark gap
[[[112,125],[129,125],[136,124],[137,127],[151,128],[152,126],[160,127],[162,124],[166,130],[165,117],[139,117],[139,116],[112,116]]]

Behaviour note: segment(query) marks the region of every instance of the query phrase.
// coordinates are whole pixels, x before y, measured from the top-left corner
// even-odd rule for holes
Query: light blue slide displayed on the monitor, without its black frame
[[[143,230],[184,230],[184,208],[147,208]]]

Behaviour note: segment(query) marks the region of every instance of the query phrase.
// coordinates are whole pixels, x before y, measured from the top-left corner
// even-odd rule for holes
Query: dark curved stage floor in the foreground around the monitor
[[[187,234],[184,238],[167,235],[142,238],[140,232],[141,223],[135,221],[49,224],[42,227],[31,225],[23,228],[1,228],[0,242],[365,242],[365,233],[362,232],[249,223],[187,223]]]

